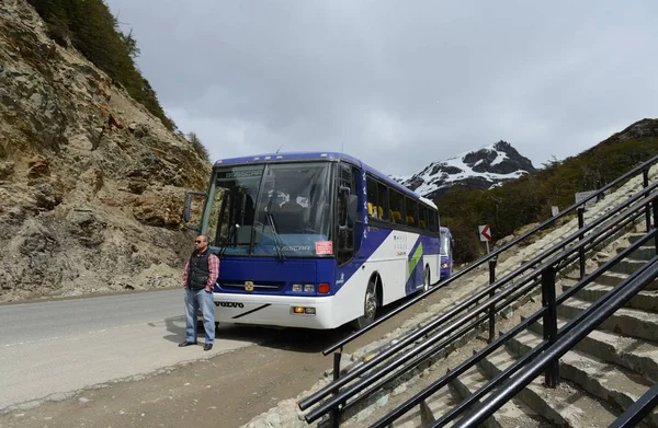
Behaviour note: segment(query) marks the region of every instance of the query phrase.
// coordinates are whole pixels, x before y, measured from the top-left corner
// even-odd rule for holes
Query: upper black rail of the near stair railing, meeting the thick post
[[[605,264],[599,266],[590,275],[582,278],[576,286],[574,286],[572,288],[570,288],[569,290],[567,290],[563,294],[560,294],[560,297],[557,299],[557,301],[565,301],[570,296],[572,296],[575,292],[580,290],[582,287],[591,284],[594,279],[600,277],[603,273],[608,271],[611,266],[616,265],[619,262],[626,258],[629,254],[637,251],[637,248],[639,248],[642,245],[644,245],[654,235],[655,235],[655,232],[651,232],[647,236],[645,236],[640,240],[637,240],[632,245],[624,248],[624,251],[620,252],[617,255],[615,255],[613,258],[608,261]],[[601,300],[602,300],[602,303],[608,301],[608,299],[605,299],[605,300],[601,299]],[[594,308],[598,308],[598,305],[595,305]],[[534,322],[538,321],[544,315],[545,311],[546,311],[546,308],[542,308],[538,311],[536,311],[535,313],[533,313],[532,315],[530,315],[529,317],[526,317],[524,321],[522,321],[521,323],[515,325],[512,329],[502,334],[498,339],[492,342],[486,348],[481,349],[479,352],[477,352],[473,357],[470,357],[467,360],[465,360],[464,362],[462,362],[460,366],[457,366],[457,368],[455,368],[447,374],[443,375],[439,380],[432,382],[429,386],[426,386],[426,389],[423,391],[413,395],[411,398],[406,401],[394,412],[389,413],[388,415],[386,415],[383,418],[381,418],[379,420],[377,420],[374,425],[371,426],[371,428],[383,428],[383,427],[390,425],[395,419],[399,418],[405,413],[409,412],[411,408],[413,408],[415,406],[420,404],[421,401],[428,398],[429,396],[434,394],[436,391],[439,391],[441,387],[449,384],[454,378],[457,378],[458,375],[463,374],[466,370],[468,370],[470,367],[473,367],[476,362],[478,362],[486,356],[494,352],[503,343],[506,343],[510,337],[515,336],[518,333],[525,329],[530,324],[533,324]],[[559,335],[560,336],[565,335],[570,329],[571,329],[571,327],[568,327],[568,324],[567,324],[567,325],[563,326],[563,328],[559,329]],[[481,354],[481,357],[479,356],[479,354]],[[477,397],[479,398],[480,395],[477,395]],[[462,404],[460,404],[457,407],[463,407],[463,406],[462,406]],[[452,413],[452,410],[451,410],[451,413]],[[442,417],[441,420],[447,420],[447,415],[449,414],[444,415],[444,417]]]

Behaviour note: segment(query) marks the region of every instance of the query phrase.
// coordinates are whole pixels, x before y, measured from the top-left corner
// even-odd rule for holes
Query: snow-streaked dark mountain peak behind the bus
[[[430,163],[410,177],[392,176],[420,195],[435,199],[452,186],[491,188],[502,182],[534,174],[530,159],[519,154],[509,142],[498,141],[446,161]]]

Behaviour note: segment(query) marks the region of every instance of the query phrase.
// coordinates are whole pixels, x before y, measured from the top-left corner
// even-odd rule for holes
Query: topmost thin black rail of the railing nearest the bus
[[[523,233],[521,236],[514,239],[513,241],[508,242],[507,244],[502,245],[498,250],[495,250],[491,253],[489,253],[489,254],[480,257],[478,261],[472,263],[466,268],[457,271],[455,275],[453,275],[451,278],[446,279],[444,282],[440,282],[440,281],[434,282],[432,285],[432,288],[430,288],[428,291],[424,291],[421,294],[412,298],[411,300],[409,300],[407,303],[402,304],[401,306],[399,306],[399,308],[395,309],[394,311],[387,313],[386,315],[384,315],[384,316],[375,320],[375,322],[373,322],[368,326],[366,326],[364,328],[361,328],[358,332],[354,332],[354,333],[350,334],[349,336],[342,338],[341,340],[339,340],[336,344],[331,345],[330,347],[326,348],[325,350],[322,350],[322,355],[327,356],[327,355],[331,354],[332,351],[334,351],[336,349],[344,347],[350,342],[354,340],[355,338],[362,336],[366,332],[370,332],[371,329],[373,329],[377,325],[386,322],[387,320],[389,320],[393,316],[397,315],[398,313],[402,312],[404,310],[406,310],[407,308],[411,306],[412,304],[415,304],[419,300],[424,299],[426,297],[430,296],[431,293],[438,291],[439,289],[441,289],[441,288],[450,285],[452,281],[454,281],[454,280],[461,278],[462,276],[466,275],[467,273],[469,273],[469,271],[472,271],[472,270],[480,267],[483,264],[485,264],[489,259],[491,259],[494,257],[498,257],[498,255],[500,253],[509,250],[513,245],[517,245],[519,242],[525,240],[527,236],[530,236],[530,235],[534,234],[535,232],[542,230],[544,227],[546,227],[546,225],[548,225],[551,223],[554,223],[558,219],[567,216],[571,211],[576,210],[578,207],[585,206],[585,204],[588,203],[589,200],[601,196],[608,189],[612,188],[613,186],[617,185],[619,183],[623,182],[624,180],[628,178],[629,176],[635,175],[638,171],[642,171],[642,170],[644,170],[644,169],[653,165],[656,162],[658,162],[658,155],[655,155],[654,158],[649,159],[648,161],[643,162],[642,164],[637,165],[636,167],[634,167],[633,170],[628,171],[624,175],[615,178],[614,181],[610,182],[605,186],[601,187],[600,189],[598,189],[597,192],[594,192],[590,196],[586,197],[585,199],[570,205],[569,207],[565,208],[563,211],[558,212],[557,216],[554,216],[554,217],[551,217],[549,219],[544,220],[543,222],[541,222],[540,224],[537,224],[533,229],[531,229],[527,232]],[[441,286],[441,287],[436,287],[438,285]]]

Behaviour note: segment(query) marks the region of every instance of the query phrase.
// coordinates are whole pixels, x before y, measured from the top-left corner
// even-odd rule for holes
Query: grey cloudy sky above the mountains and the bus
[[[535,166],[658,117],[658,2],[105,0],[214,159],[341,151],[388,174],[512,143]]]

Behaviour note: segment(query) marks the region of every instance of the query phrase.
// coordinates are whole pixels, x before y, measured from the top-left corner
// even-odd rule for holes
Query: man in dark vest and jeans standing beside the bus
[[[201,308],[206,340],[203,350],[213,349],[215,342],[215,310],[213,309],[213,287],[219,276],[219,258],[208,250],[208,236],[198,235],[194,240],[194,252],[183,270],[185,289],[185,342],[179,346],[196,345],[196,312]]]

